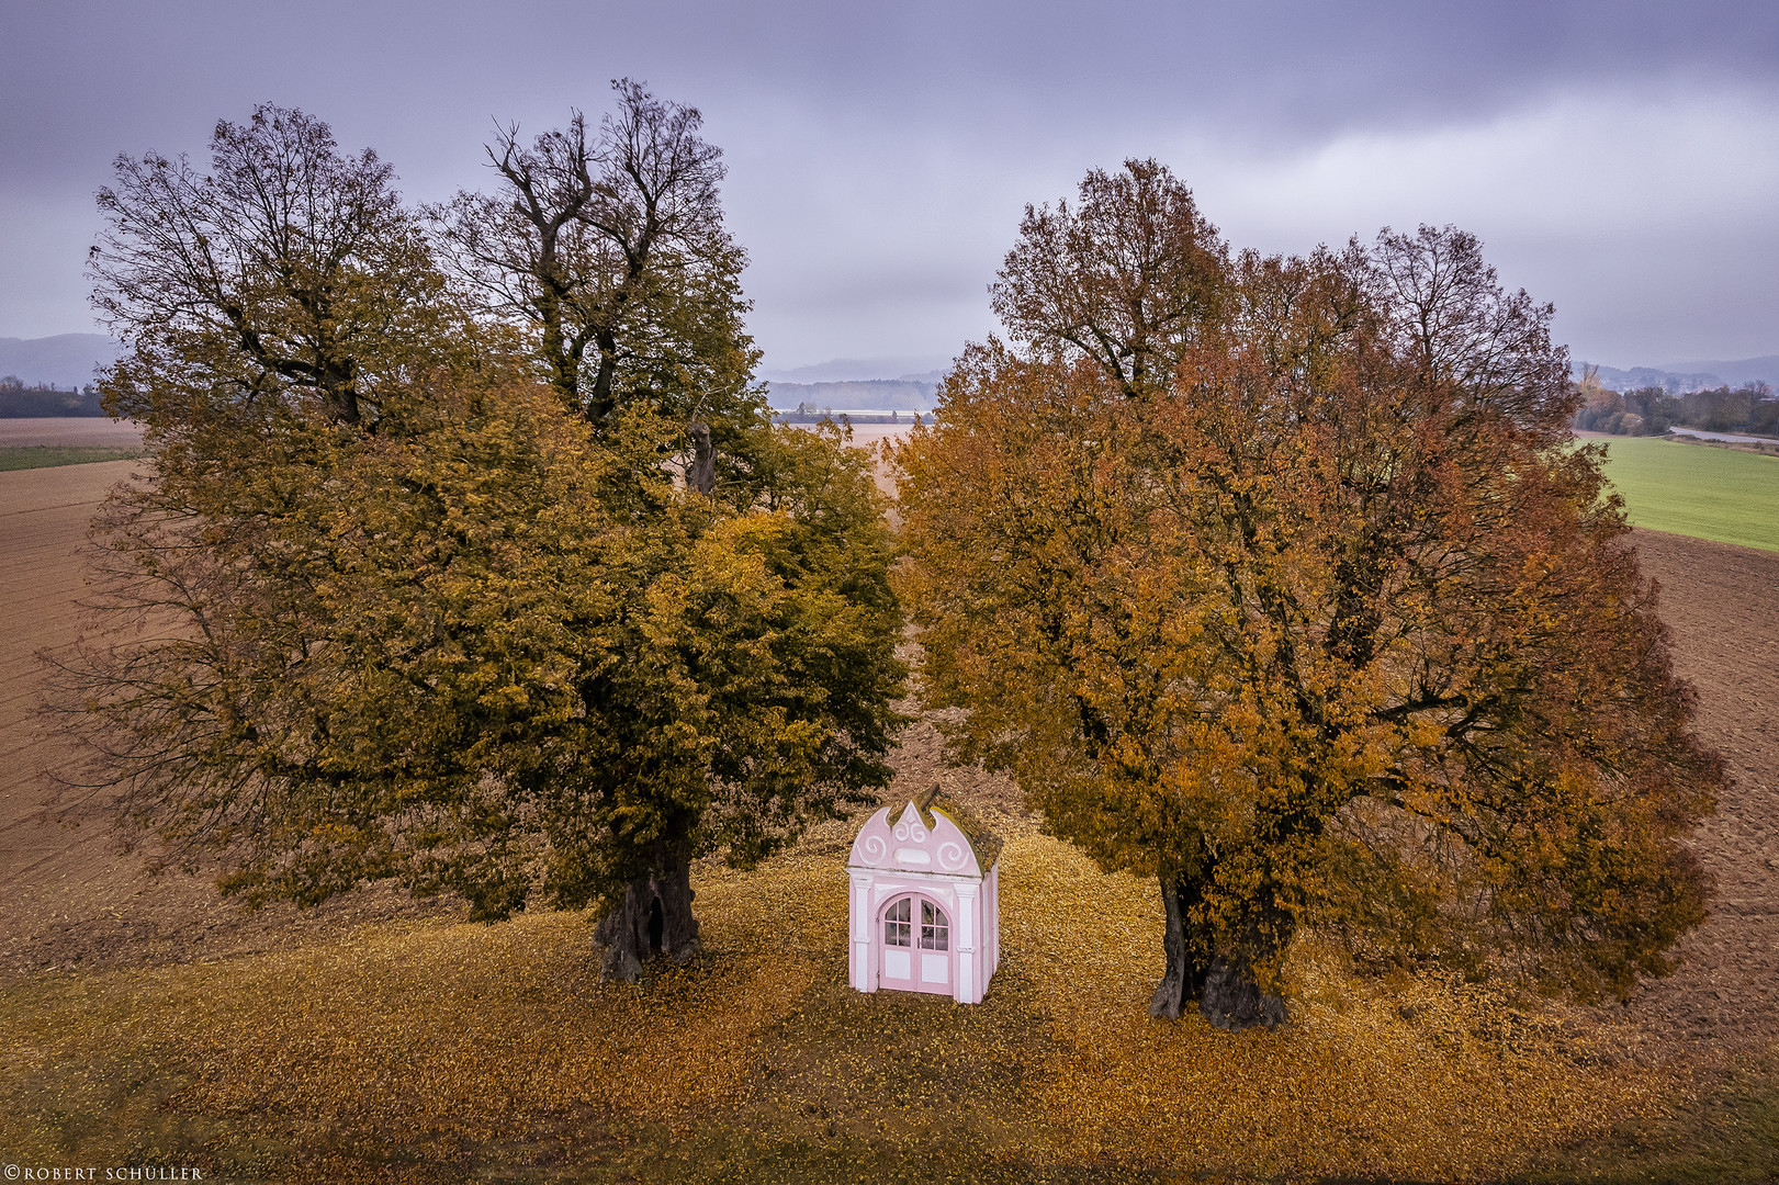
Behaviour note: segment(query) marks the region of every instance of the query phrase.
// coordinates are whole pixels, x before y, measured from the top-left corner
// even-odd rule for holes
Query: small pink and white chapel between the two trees
[[[1000,847],[939,786],[872,815],[847,859],[852,986],[982,1004],[1000,966]]]

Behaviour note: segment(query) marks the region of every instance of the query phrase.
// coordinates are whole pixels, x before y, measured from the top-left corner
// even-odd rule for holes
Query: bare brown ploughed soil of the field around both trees
[[[135,466],[0,473],[0,984],[306,945],[379,918],[461,916],[459,902],[391,890],[254,915],[203,875],[149,877],[117,850],[103,795],[59,785],[78,781],[80,760],[36,719],[34,655],[75,637],[87,520]],[[1710,920],[1683,943],[1672,977],[1605,1012],[1630,1021],[1621,1030],[1637,1048],[1626,1052],[1640,1060],[1727,1068],[1779,1041],[1779,553],[1647,530],[1633,541],[1662,585],[1676,664],[1699,689],[1699,728],[1735,785],[1694,840],[1717,877]],[[909,728],[895,763],[890,797],[946,778],[930,722]],[[1000,779],[968,781],[984,813],[1023,813]]]

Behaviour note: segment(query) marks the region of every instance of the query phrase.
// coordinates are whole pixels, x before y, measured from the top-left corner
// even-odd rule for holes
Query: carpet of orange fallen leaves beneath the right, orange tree
[[[1662,1110],[1656,1071],[1455,980],[1343,979],[1300,943],[1292,1021],[1229,1036],[1146,1014],[1162,977],[1156,888],[1021,836],[1003,856],[1005,957],[1055,1053],[1032,1132],[1059,1160],[1260,1176],[1477,1180]]]

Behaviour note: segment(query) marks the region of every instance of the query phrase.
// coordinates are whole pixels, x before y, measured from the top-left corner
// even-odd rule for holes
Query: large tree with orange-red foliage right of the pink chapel
[[[1131,162],[1028,210],[996,310],[1018,349],[897,454],[900,591],[954,756],[1158,877],[1155,1014],[1283,1021],[1309,931],[1582,996],[1667,970],[1722,772],[1550,306],[1453,230],[1231,258]]]

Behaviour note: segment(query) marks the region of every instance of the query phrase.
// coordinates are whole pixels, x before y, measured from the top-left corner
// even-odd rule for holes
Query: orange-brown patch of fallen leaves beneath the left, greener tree
[[[708,1107],[808,984],[749,959],[598,984],[580,916],[455,925],[288,955],[233,993],[190,1105],[493,1135],[571,1107]]]

